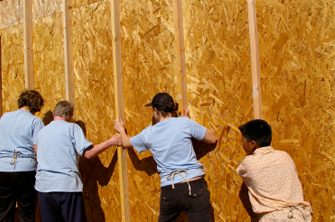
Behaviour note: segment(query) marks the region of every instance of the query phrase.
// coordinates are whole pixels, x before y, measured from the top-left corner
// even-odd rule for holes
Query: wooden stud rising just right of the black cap
[[[176,57],[178,72],[178,103],[187,106],[187,82],[185,66],[185,44],[183,26],[183,8],[181,0],[173,0],[174,30],[176,39]]]

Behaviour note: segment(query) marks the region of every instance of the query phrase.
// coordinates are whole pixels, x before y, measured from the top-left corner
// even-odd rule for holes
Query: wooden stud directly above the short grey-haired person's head
[[[73,68],[73,36],[72,36],[72,0],[63,0],[63,29],[65,57],[65,92],[66,100],[75,104],[74,68]]]

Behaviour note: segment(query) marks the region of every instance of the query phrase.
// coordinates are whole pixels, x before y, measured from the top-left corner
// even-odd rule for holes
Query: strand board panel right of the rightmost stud
[[[281,2],[256,5],[263,117],[297,166],[313,220],[334,221],[334,1]]]

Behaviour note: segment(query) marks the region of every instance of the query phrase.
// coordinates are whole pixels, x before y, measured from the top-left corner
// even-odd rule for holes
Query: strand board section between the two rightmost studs
[[[245,156],[238,126],[253,119],[245,0],[183,1],[191,118],[214,130],[217,147],[198,144],[215,221],[250,221],[235,169]]]

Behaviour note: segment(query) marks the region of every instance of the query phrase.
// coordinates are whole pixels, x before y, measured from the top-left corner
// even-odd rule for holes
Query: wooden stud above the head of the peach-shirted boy
[[[261,98],[261,81],[259,68],[258,37],[257,37],[257,20],[256,20],[256,0],[248,1],[248,18],[250,34],[250,51],[251,51],[251,70],[252,86],[254,98],[254,117],[262,118],[262,98]]]

